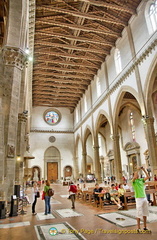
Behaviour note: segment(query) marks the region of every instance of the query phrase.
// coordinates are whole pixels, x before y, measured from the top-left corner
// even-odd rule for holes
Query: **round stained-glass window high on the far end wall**
[[[60,115],[59,111],[50,109],[44,113],[44,120],[46,123],[48,123],[50,125],[55,125],[60,122],[61,115]]]

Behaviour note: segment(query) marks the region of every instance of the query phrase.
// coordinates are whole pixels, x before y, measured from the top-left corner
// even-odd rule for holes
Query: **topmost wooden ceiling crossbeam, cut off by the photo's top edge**
[[[85,2],[85,0],[79,0],[79,1]],[[91,5],[97,6],[97,7],[104,7],[104,8],[107,8],[107,9],[113,9],[113,10],[116,10],[116,11],[122,11],[122,12],[129,13],[131,15],[136,13],[131,8],[128,8],[128,7],[125,7],[125,6],[119,6],[119,5],[116,5],[114,3],[106,3],[104,1],[94,1],[94,0],[86,0],[86,2],[90,3]]]

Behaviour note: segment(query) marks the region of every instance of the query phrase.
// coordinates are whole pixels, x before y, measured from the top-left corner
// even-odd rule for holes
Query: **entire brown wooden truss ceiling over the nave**
[[[36,0],[33,105],[71,112],[141,0]]]

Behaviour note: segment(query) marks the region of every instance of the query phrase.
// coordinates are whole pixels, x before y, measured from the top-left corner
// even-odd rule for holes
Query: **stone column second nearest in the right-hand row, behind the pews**
[[[122,164],[120,156],[120,146],[119,146],[119,135],[113,135],[113,145],[114,145],[114,165],[116,182],[120,183],[122,181]]]

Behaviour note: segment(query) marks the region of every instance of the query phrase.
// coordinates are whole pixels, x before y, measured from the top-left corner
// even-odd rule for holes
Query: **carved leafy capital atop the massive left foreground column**
[[[5,46],[2,48],[2,59],[5,65],[23,70],[27,62],[27,54],[20,48]]]

